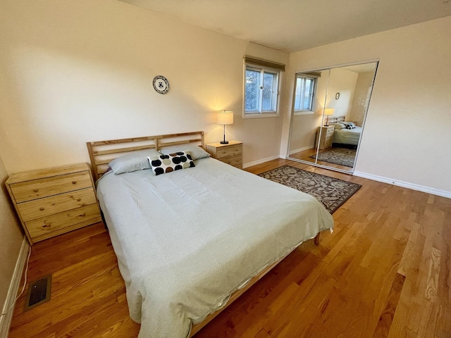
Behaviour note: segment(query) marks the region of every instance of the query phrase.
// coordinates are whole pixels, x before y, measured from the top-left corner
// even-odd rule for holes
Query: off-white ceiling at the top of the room
[[[291,53],[451,15],[451,0],[119,0]]]

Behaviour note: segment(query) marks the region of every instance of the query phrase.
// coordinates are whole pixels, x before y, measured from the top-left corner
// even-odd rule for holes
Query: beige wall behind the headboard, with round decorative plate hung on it
[[[85,142],[204,130],[235,111],[244,162],[278,156],[283,118],[242,119],[243,55],[288,54],[105,0],[6,0],[0,11],[0,144],[8,173],[89,161]],[[166,95],[152,87],[168,78]],[[285,84],[283,84],[284,86]]]

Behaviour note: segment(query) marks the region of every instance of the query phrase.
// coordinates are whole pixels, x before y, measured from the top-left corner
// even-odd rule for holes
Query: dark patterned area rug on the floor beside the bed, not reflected
[[[333,213],[362,185],[284,165],[259,176],[314,196]]]

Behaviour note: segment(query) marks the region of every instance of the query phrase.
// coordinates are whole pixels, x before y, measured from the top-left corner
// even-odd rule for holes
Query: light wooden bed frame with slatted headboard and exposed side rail
[[[343,116],[344,118],[344,116]],[[87,142],[87,150],[89,152],[89,158],[91,159],[92,169],[94,171],[94,178],[98,180],[101,175],[104,175],[106,170],[108,170],[108,163],[117,158],[119,156],[123,156],[133,151],[139,151],[143,149],[156,149],[159,150],[163,146],[173,146],[175,144],[189,144],[194,143],[202,148],[205,148],[204,143],[204,132],[184,132],[180,134],[164,134],[164,135],[156,135],[156,136],[144,136],[144,137],[133,137],[130,139],[110,139],[107,141],[95,141],[95,142]],[[314,238],[314,243],[316,245],[319,244],[320,234],[317,234]],[[290,253],[288,253],[290,254]],[[287,255],[288,256],[288,255]],[[286,256],[285,256],[286,257]],[[285,258],[283,257],[283,258]],[[229,301],[226,306],[211,313],[208,315],[202,323],[198,323],[192,325],[190,337],[194,336],[199,330],[202,329],[206,324],[208,324],[211,320],[213,320],[216,315],[221,313],[224,309],[227,308],[235,299],[244,294],[247,289],[252,287],[256,282],[258,282],[261,277],[266,275],[272,268],[274,268],[280,261],[283,260],[281,258],[273,265],[268,266],[268,268],[264,269],[259,273],[259,275],[252,278],[247,282],[246,286],[240,290],[237,290],[234,294],[230,296]]]

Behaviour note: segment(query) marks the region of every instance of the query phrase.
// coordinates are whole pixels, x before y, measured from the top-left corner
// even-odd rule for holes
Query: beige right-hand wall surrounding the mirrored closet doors
[[[355,170],[451,192],[451,16],[290,54],[298,71],[379,59]],[[286,154],[292,90],[285,93]]]

